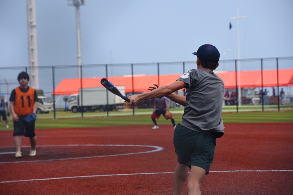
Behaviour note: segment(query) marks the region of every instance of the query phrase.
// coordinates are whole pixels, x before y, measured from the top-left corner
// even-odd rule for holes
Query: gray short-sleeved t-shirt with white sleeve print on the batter
[[[180,76],[186,88],[186,107],[180,123],[200,133],[215,133],[217,138],[224,134],[221,117],[224,82],[208,70],[188,70]]]

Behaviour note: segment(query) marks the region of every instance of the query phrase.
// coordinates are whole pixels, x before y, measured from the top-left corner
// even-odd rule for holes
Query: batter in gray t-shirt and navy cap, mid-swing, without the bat
[[[155,85],[149,88],[151,92],[129,96],[130,102],[127,103],[134,106],[142,100],[166,96],[186,106],[173,138],[178,156],[174,172],[174,195],[181,194],[188,176],[188,167],[188,194],[201,194],[201,183],[213,162],[216,138],[224,135],[221,117],[224,82],[213,73],[219,66],[220,53],[215,46],[205,44],[193,54],[197,55],[197,70],[188,70],[170,85]],[[183,88],[186,88],[186,97],[172,94]]]

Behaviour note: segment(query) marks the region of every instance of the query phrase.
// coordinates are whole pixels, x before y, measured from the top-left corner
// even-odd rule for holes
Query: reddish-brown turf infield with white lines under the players
[[[37,156],[23,137],[21,159],[1,131],[0,194],[173,194],[173,128],[151,127],[36,130]],[[225,127],[202,194],[293,194],[293,123]]]

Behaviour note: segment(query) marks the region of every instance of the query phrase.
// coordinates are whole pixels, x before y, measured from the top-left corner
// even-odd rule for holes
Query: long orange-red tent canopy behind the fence
[[[225,84],[225,89],[236,88],[235,72],[215,72]],[[149,86],[153,84],[168,85],[176,81],[181,74],[160,75],[135,75],[133,77],[134,92],[146,92]],[[238,74],[237,74],[238,76]],[[82,87],[103,87],[100,83],[102,77],[83,78]],[[116,86],[124,86],[126,93],[132,92],[132,77],[108,77],[108,79]],[[241,71],[240,86],[241,88],[261,87],[261,71]],[[237,84],[238,80],[237,80]],[[277,70],[263,70],[263,87],[277,86]],[[293,69],[279,70],[279,86],[293,86]],[[63,79],[55,88],[55,95],[76,94],[81,88],[81,79]],[[54,93],[52,93],[54,94]]]

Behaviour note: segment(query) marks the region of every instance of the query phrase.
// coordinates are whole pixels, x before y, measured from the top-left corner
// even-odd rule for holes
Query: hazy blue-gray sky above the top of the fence
[[[0,67],[28,66],[25,0],[0,0]],[[76,65],[75,8],[35,0],[39,66]],[[292,0],[86,0],[80,6],[82,64],[195,61],[202,44],[223,60],[293,56]],[[229,22],[232,24],[229,30]],[[112,54],[112,55],[111,55]]]

